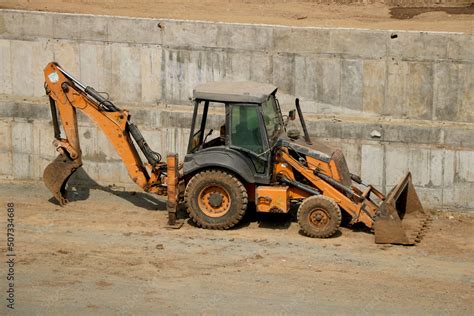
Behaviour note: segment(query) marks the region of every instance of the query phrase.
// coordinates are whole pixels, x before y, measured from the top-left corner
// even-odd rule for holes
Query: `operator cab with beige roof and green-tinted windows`
[[[185,174],[213,164],[218,167],[217,159],[224,154],[244,161],[255,181],[268,183],[271,148],[284,130],[276,91],[274,85],[250,81],[196,86]],[[242,169],[242,161],[234,168]]]

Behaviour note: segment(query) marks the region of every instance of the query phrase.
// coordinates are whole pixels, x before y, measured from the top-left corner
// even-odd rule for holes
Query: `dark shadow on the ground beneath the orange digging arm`
[[[166,201],[144,192],[126,191],[120,187],[102,186],[94,181],[81,167],[69,179],[67,184],[67,199],[69,202],[84,201],[90,196],[90,190],[100,190],[122,198],[136,207],[149,211],[166,211]],[[53,198],[55,203],[57,201]],[[51,201],[50,200],[50,201]]]

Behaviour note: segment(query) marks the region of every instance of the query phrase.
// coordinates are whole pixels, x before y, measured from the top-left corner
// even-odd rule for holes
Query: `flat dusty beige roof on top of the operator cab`
[[[215,102],[262,103],[277,89],[272,84],[253,81],[215,81],[197,85],[193,97]]]

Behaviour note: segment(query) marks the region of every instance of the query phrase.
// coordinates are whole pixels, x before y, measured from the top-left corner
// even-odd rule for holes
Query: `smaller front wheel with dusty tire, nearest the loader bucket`
[[[306,236],[328,238],[341,225],[341,210],[334,200],[326,196],[310,196],[298,208],[298,224]]]

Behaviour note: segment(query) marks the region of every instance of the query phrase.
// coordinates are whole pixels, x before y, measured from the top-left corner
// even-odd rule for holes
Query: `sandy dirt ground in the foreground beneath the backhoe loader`
[[[167,230],[163,200],[73,188],[61,208],[40,183],[0,183],[0,314],[6,312],[6,204],[14,203],[21,315],[452,314],[474,312],[474,216],[436,213],[420,244],[365,231],[299,234],[288,217],[230,231]]]

